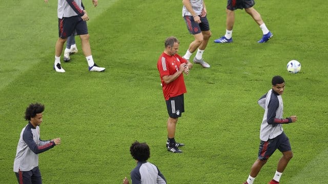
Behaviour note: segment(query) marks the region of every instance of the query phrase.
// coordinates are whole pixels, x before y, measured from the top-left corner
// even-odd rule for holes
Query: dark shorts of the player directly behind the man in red
[[[210,31],[210,24],[206,16],[200,17],[200,24],[195,22],[193,16],[186,15],[183,18],[185,19],[190,34],[194,35],[200,33],[201,31]]]

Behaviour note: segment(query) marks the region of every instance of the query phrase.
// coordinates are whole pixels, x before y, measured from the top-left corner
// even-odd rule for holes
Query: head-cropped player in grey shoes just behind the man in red
[[[197,50],[194,57],[194,63],[200,64],[204,68],[211,67],[209,63],[202,58],[207,43],[212,35],[210,24],[206,17],[207,11],[203,0],[182,0],[182,17],[185,19],[190,34],[194,35],[194,41],[190,43],[189,48],[183,58],[189,60],[191,55]]]

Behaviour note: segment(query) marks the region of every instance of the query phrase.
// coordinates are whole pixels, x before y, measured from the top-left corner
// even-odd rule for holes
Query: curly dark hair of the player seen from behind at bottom
[[[131,156],[141,162],[148,160],[150,157],[150,149],[146,143],[135,141],[130,147]]]

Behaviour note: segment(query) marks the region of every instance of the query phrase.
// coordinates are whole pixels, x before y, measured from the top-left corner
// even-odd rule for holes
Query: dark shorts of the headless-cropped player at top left
[[[58,18],[58,30],[60,38],[74,35],[88,34],[87,22],[80,16]]]

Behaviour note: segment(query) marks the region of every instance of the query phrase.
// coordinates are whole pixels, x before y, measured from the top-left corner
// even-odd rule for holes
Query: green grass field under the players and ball
[[[168,36],[180,40],[184,55],[193,40],[181,17],[181,1],[91,1],[84,5],[95,62],[107,70],[88,72],[81,52],[53,71],[58,37],[57,1],[6,1],[0,4],[0,183],[17,183],[13,160],[30,103],[46,106],[40,127],[44,140],[61,145],[39,155],[44,183],[121,183],[135,167],[129,147],[135,140],[151,148],[149,161],[168,183],[242,183],[257,158],[263,110],[257,100],[271,78],[286,81],[284,125],[294,157],[280,183],[326,183],[328,180],[328,13],[322,1],[256,1],[273,32],[265,44],[252,18],[236,11],[234,42],[213,40],[226,30],[226,1],[206,1],[213,36],[203,55],[211,64],[194,65],[185,76],[186,112],[176,139],[182,154],[166,150],[165,101],[156,62]],[[194,55],[192,56],[192,58]],[[63,58],[63,56],[62,56]],[[301,62],[299,74],[285,67]],[[275,152],[254,183],[268,183],[281,153]]]

